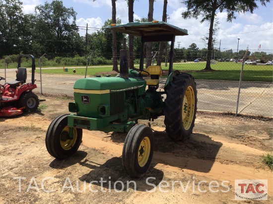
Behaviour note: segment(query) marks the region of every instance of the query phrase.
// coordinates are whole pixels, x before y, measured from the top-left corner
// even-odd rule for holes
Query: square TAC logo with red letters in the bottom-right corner
[[[268,180],[235,180],[235,200],[268,200]]]

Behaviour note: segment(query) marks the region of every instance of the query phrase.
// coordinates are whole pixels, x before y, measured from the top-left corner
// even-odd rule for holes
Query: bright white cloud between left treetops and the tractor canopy
[[[87,19],[80,18],[80,19],[76,20],[77,26],[86,27],[86,23],[88,24],[88,28],[90,29],[90,30],[88,30],[88,34],[96,32],[97,30],[95,28],[98,28],[98,30],[99,30],[104,25],[104,23],[102,23],[100,17],[87,18]],[[86,30],[79,29],[79,35],[80,36],[85,36],[85,34],[86,34]]]

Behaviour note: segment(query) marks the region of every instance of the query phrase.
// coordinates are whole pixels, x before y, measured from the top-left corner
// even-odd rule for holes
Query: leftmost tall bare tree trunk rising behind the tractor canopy
[[[116,0],[112,0],[112,23],[116,24]],[[118,69],[118,60],[117,60],[117,32],[112,31],[113,34],[113,46],[112,46],[112,52],[113,52],[113,71],[119,72]]]

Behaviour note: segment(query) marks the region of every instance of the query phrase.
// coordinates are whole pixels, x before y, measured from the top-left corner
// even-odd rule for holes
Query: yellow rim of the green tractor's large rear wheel
[[[195,94],[192,86],[188,86],[182,103],[182,123],[185,130],[189,130],[195,111]]]

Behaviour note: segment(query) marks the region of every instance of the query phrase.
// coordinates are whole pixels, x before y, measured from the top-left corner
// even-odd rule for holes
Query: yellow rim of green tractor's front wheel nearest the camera
[[[138,165],[140,167],[143,167],[147,163],[150,151],[151,151],[150,139],[148,137],[144,137],[138,147],[137,152],[137,160]]]

